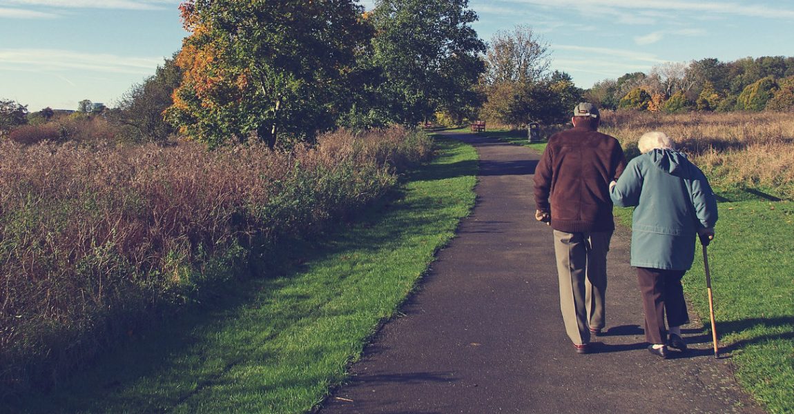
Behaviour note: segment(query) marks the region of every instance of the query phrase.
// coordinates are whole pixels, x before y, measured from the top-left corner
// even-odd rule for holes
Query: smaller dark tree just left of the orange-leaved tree
[[[110,119],[135,142],[166,140],[175,129],[165,121],[164,111],[173,104],[172,94],[181,80],[182,71],[175,60],[165,59],[154,75],[122,96]]]

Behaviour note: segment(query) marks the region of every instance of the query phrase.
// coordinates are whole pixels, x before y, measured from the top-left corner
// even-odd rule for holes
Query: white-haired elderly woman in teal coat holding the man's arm
[[[647,132],[638,147],[642,155],[610,183],[610,195],[615,205],[636,207],[631,266],[637,267],[648,351],[667,358],[668,347],[687,349],[680,331],[689,321],[681,278],[695,259],[696,234],[714,237],[717,201],[703,171],[664,132]]]

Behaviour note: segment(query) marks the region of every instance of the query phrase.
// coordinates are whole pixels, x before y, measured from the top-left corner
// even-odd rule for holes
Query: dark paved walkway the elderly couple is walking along
[[[713,357],[700,324],[684,327],[695,348],[686,357],[646,351],[626,229],[612,239],[599,353],[576,354],[562,324],[551,229],[534,220],[539,156],[455,137],[480,154],[476,208],[322,413],[762,412],[727,360]]]

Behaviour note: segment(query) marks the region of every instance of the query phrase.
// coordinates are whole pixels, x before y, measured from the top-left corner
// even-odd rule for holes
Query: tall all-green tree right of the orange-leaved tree
[[[485,44],[468,0],[378,0],[370,19],[372,63],[384,79],[377,96],[393,121],[416,125],[476,98]]]

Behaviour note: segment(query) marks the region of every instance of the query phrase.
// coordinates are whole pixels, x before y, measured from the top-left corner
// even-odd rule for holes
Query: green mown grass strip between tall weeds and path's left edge
[[[474,205],[476,152],[440,140],[401,197],[317,240],[279,247],[244,282],[143,333],[18,412],[306,412],[391,317]],[[342,226],[344,227],[344,226]]]

